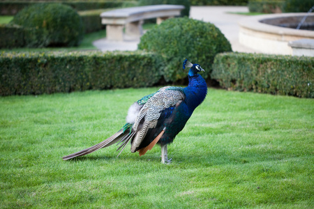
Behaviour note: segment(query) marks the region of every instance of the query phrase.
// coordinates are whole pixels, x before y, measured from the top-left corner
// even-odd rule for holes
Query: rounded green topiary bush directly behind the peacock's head
[[[163,76],[167,82],[186,77],[182,62],[198,63],[209,77],[214,57],[220,52],[231,52],[230,42],[214,24],[188,17],[171,18],[145,33],[139,49],[156,52],[163,58]]]

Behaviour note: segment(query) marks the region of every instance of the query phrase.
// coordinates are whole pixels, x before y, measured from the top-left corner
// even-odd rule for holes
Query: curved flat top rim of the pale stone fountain
[[[246,29],[251,29],[254,31],[260,31],[264,33],[274,33],[284,36],[304,36],[314,38],[314,31],[308,30],[297,30],[284,28],[281,26],[274,26],[271,24],[262,23],[260,21],[267,19],[274,19],[278,17],[296,17],[296,16],[314,16],[314,13],[280,13],[271,15],[256,15],[253,17],[246,17],[238,22],[238,24]]]

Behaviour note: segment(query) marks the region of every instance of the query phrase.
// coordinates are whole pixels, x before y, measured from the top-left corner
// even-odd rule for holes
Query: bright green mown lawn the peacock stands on
[[[314,100],[209,88],[174,143],[63,161],[158,88],[0,98],[0,208],[313,208]]]

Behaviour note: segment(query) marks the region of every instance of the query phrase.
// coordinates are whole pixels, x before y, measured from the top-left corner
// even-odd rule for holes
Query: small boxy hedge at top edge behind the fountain
[[[281,13],[284,3],[284,0],[251,0],[248,1],[248,10],[251,13]]]

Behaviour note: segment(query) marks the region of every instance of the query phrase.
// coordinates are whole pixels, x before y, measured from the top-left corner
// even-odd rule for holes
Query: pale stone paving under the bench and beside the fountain
[[[232,13],[248,12],[246,6],[191,6],[190,18],[211,22],[225,35],[232,45],[234,52],[256,52],[254,49],[244,47],[239,43],[239,20],[246,18],[245,15],[237,15]],[[106,40],[106,38],[96,40],[93,44],[103,52],[105,51],[134,51],[137,49],[137,44],[140,40],[130,40],[125,37],[124,41]]]

